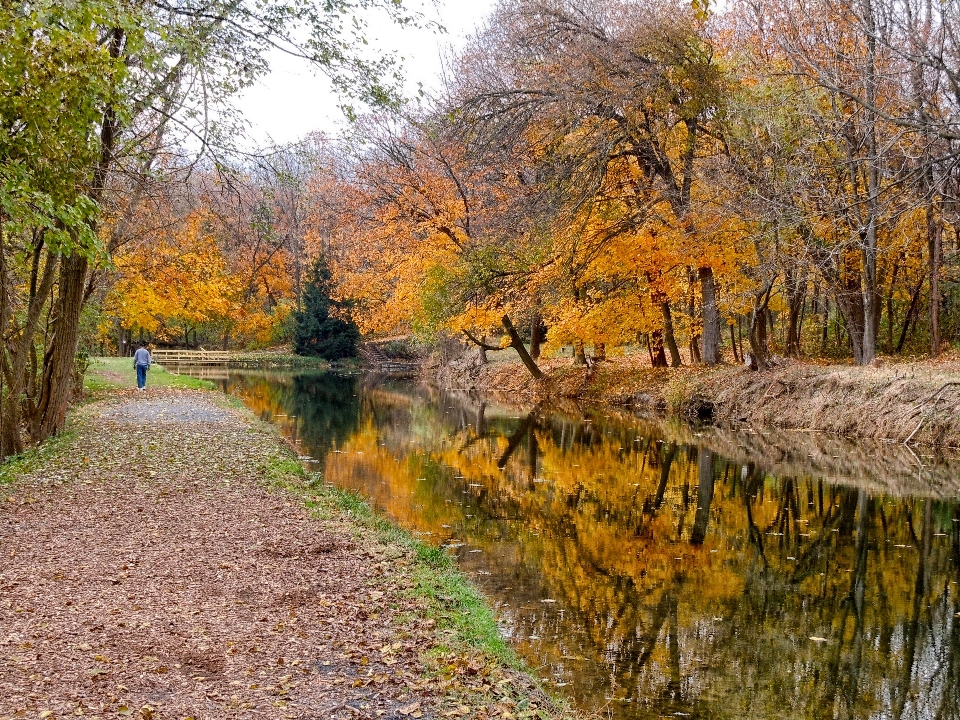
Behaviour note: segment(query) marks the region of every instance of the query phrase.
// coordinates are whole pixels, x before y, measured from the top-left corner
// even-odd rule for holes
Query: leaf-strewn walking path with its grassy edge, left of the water
[[[573,717],[442,550],[224,396],[116,380],[0,466],[0,718]]]

